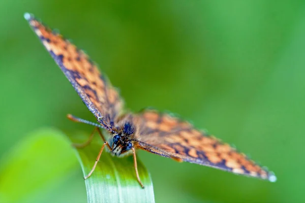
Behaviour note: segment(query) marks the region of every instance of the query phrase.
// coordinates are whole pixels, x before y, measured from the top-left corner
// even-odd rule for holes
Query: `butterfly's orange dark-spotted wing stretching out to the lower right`
[[[134,116],[135,147],[178,161],[187,161],[275,181],[268,172],[229,144],[195,129],[190,123],[168,114],[146,110]]]

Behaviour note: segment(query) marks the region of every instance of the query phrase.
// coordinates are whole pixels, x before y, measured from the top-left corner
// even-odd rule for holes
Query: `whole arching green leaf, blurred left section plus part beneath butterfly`
[[[88,132],[69,136],[71,142],[79,143],[88,137]],[[35,202],[45,188],[60,185],[77,165],[74,151],[87,175],[102,146],[99,139],[96,135],[90,145],[74,150],[58,130],[29,134],[0,160],[0,202]],[[150,176],[139,160],[138,171],[145,189],[137,182],[132,156],[112,157],[105,150],[92,176],[84,181],[88,202],[155,202]]]

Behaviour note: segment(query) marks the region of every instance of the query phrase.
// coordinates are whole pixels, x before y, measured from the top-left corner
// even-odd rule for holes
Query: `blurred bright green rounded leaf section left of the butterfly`
[[[33,202],[60,185],[77,165],[71,144],[55,129],[25,136],[0,161],[0,202]]]

